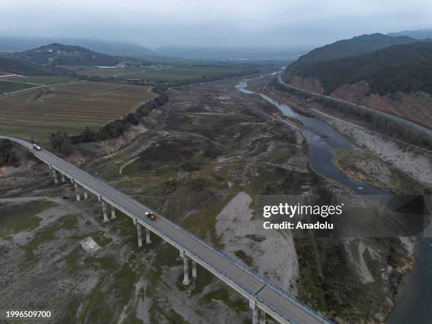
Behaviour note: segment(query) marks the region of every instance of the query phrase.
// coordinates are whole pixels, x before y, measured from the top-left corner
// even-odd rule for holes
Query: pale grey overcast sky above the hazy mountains
[[[0,35],[295,48],[432,28],[431,0],[0,0]]]

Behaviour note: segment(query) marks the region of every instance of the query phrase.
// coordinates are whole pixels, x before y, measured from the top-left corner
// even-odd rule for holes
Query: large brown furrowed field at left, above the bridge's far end
[[[0,134],[44,143],[56,131],[76,135],[134,112],[155,94],[150,87],[79,81],[0,97]]]

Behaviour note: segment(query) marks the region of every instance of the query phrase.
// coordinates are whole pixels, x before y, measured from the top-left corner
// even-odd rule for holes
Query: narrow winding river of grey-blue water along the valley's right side
[[[303,124],[299,129],[308,141],[308,157],[313,169],[361,195],[391,195],[388,191],[349,179],[335,164],[335,150],[354,148],[351,140],[337,133],[325,121],[294,111],[287,104],[251,90],[246,90],[247,80],[241,80],[236,89],[246,95],[260,95],[275,105],[285,116],[292,116]],[[416,246],[417,261],[414,270],[402,280],[396,295],[389,324],[432,323],[432,244],[431,238],[420,238]]]

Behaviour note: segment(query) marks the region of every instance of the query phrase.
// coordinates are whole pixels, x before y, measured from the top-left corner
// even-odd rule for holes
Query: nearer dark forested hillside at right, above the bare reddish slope
[[[432,93],[432,42],[393,45],[358,56],[294,66],[290,76],[318,78],[326,93],[365,80],[372,92]]]

